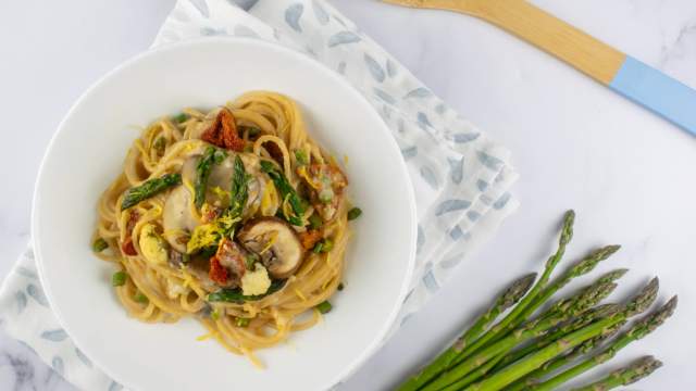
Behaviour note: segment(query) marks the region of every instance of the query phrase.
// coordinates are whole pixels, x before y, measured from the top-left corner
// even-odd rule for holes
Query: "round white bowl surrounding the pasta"
[[[90,251],[97,199],[120,173],[139,127],[184,106],[213,108],[269,89],[296,99],[311,135],[349,156],[350,195],[363,210],[346,258],[346,289],[324,321],[262,350],[260,370],[192,319],[147,325],[126,316],[113,265]],[[405,299],[415,252],[415,206],[389,130],[333,71],[258,40],[214,38],[149,51],[92,86],[63,119],[44,157],[33,210],[41,282],[75,344],[137,390],[320,390],[380,345]]]

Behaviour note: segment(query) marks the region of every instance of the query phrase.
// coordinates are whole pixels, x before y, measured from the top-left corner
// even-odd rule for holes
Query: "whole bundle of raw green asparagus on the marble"
[[[574,219],[573,211],[566,213],[558,250],[546,262],[536,283],[536,274],[513,281],[449,349],[399,390],[554,390],[606,363],[669,318],[676,297],[619,335],[630,318],[651,306],[659,288],[656,277],[625,303],[600,304],[626,269],[607,273],[574,294],[549,303],[571,280],[588,274],[619,250],[619,245],[595,250],[551,280],[573,237]],[[507,310],[507,315],[495,323]],[[580,390],[629,384],[660,366],[659,361],[644,357]]]

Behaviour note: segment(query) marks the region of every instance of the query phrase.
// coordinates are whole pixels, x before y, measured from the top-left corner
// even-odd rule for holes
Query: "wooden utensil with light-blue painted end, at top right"
[[[696,91],[525,0],[382,0],[459,12],[547,51],[696,136]]]

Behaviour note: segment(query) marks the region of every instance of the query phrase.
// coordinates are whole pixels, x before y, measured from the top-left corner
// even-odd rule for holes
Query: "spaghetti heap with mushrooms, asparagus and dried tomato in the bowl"
[[[228,351],[314,325],[341,285],[348,180],[298,105],[268,91],[142,130],[103,192],[95,252],[116,297],[148,323],[198,318]],[[341,286],[343,287],[343,286]]]

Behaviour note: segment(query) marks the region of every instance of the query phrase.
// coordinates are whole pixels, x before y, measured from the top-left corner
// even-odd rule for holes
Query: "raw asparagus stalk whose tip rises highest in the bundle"
[[[495,342],[502,338],[507,332],[515,329],[524,319],[520,315],[526,312],[526,308],[533,304],[536,300],[536,297],[546,288],[548,280],[554,273],[554,269],[558,265],[558,263],[563,257],[566,253],[566,247],[573,238],[573,224],[575,223],[575,212],[568,211],[563,217],[563,228],[561,229],[561,235],[558,240],[558,249],[556,253],[554,253],[548,261],[546,261],[546,265],[544,266],[544,273],[542,277],[536,281],[530,293],[520,301],[520,303],[497,325],[495,325],[488,332],[483,335],[478,340],[476,340],[473,344],[468,346],[464,351],[462,351],[455,364],[463,362],[467,357],[469,357],[472,353],[477,351],[480,348],[484,346],[487,342]]]

